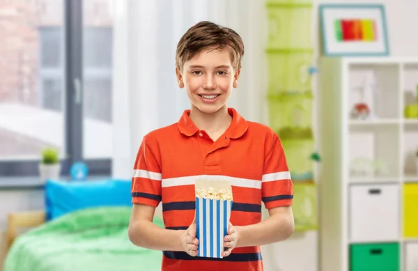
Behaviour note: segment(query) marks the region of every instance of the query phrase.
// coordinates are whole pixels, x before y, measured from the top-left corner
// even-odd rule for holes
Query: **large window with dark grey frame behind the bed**
[[[46,146],[59,150],[64,175],[76,161],[109,174],[109,1],[15,2],[0,5],[0,177],[37,176]]]

